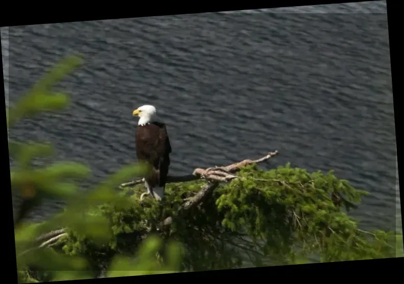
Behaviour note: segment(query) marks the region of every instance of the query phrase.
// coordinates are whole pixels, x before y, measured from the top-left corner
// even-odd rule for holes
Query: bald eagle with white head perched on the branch
[[[152,105],[143,105],[133,110],[132,116],[139,117],[136,130],[138,161],[147,163],[151,168],[148,175],[144,177],[146,194],[161,200],[166,187],[171,153],[166,125],[156,121],[156,108]]]

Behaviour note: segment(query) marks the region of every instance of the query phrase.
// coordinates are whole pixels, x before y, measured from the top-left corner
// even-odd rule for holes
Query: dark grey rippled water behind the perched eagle
[[[91,181],[136,159],[131,111],[147,103],[168,124],[171,174],[279,150],[267,168],[335,169],[371,192],[354,212],[365,228],[396,225],[385,2],[16,26],[2,30],[2,47],[7,104],[84,54],[60,84],[69,108],[9,136],[51,141],[58,159],[90,165]]]

